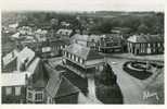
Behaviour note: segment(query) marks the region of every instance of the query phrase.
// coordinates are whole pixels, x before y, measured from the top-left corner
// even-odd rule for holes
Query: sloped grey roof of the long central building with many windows
[[[84,58],[85,60],[92,60],[92,59],[101,59],[103,58],[100,56],[97,51],[91,50],[88,47],[78,45],[78,44],[72,44],[69,45],[66,50],[73,55],[76,55],[78,57]]]

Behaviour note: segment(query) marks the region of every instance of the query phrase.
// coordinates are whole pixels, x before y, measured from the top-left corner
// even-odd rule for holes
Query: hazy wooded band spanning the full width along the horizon
[[[89,28],[89,33],[94,34],[111,33],[115,27],[130,28],[128,33],[132,34],[164,34],[163,12],[11,12],[8,14],[2,13],[2,25],[7,23],[9,19],[14,19],[12,17],[12,14],[14,14],[14,17],[17,17],[20,26],[30,25],[56,29],[60,27],[60,22],[66,21],[72,24],[70,28],[73,29]],[[77,20],[77,16],[80,16],[81,19]],[[88,19],[92,19],[93,24],[89,24],[87,22]],[[84,20],[85,23],[82,24]]]

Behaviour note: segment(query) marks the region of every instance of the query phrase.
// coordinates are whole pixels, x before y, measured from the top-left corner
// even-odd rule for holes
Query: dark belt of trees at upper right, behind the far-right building
[[[132,34],[164,34],[164,13],[127,15],[103,19],[90,28],[91,33],[111,33],[114,27],[128,27]]]

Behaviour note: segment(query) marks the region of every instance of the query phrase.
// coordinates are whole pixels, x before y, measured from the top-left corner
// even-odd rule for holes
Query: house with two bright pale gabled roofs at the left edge
[[[28,47],[25,47],[21,51],[13,50],[2,58],[2,70],[8,73],[24,72],[35,58],[35,52]]]

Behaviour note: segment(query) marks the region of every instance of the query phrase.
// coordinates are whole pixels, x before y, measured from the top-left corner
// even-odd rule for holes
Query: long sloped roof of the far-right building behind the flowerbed
[[[128,38],[131,43],[158,43],[164,41],[164,38],[159,35],[133,35]]]

